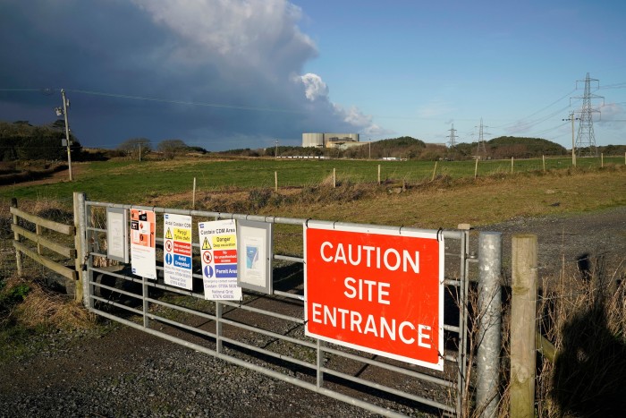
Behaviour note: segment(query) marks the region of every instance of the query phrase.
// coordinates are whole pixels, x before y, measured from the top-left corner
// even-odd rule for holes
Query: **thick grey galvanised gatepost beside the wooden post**
[[[495,417],[500,402],[500,350],[502,346],[502,234],[478,236],[478,358],[477,410]]]

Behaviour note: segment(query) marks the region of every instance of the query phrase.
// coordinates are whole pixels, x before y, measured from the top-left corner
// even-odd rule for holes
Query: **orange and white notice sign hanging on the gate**
[[[152,210],[131,209],[132,274],[157,278],[156,216]]]

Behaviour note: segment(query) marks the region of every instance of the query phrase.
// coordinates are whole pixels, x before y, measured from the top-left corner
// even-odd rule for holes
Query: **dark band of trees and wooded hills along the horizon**
[[[131,138],[123,141],[117,149],[100,149],[84,152],[80,142],[71,133],[72,160],[106,158],[175,158],[185,155],[205,155],[207,149],[190,147],[182,140],[164,140],[153,148],[146,138]],[[33,126],[28,121],[0,122],[0,161],[65,161],[67,149],[63,120],[54,124]],[[563,146],[541,138],[501,136],[485,142],[461,142],[453,147],[431,144],[410,136],[382,141],[365,142],[361,146],[347,149],[317,149],[292,146],[268,147],[266,149],[230,149],[213,154],[235,157],[280,157],[324,156],[326,158],[398,158],[408,160],[463,160],[475,158],[541,158],[567,155],[570,151]],[[606,156],[624,155],[626,145],[598,147]]]

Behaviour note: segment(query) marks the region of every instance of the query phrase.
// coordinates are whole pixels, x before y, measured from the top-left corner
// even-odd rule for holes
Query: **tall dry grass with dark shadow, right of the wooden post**
[[[538,329],[557,350],[538,357],[537,416],[618,416],[626,387],[626,270],[562,271],[543,287]]]

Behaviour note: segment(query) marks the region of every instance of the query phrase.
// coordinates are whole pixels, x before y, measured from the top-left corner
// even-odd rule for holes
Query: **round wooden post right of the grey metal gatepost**
[[[537,235],[512,237],[511,416],[535,416]]]

